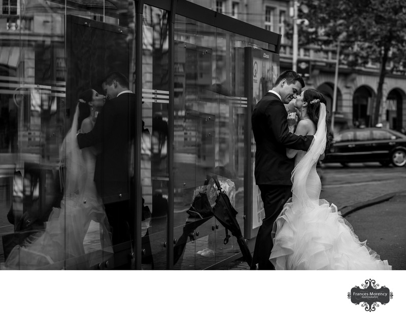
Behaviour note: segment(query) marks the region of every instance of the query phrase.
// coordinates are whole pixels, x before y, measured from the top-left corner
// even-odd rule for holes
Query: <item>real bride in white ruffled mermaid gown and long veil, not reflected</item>
[[[289,158],[295,157],[292,198],[274,223],[269,260],[276,270],[391,270],[387,260],[381,261],[366,241],[359,241],[334,204],[319,199],[316,164],[328,140],[325,103],[315,89],[304,90],[295,101],[300,112],[295,134],[314,135],[314,140],[308,152],[286,151]],[[289,114],[292,117],[295,114]]]

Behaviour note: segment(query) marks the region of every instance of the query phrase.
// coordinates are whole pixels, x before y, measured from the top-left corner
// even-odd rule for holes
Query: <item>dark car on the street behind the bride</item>
[[[387,166],[393,164],[401,167],[406,164],[406,135],[400,132],[364,128],[348,129],[337,134],[328,150],[323,163],[378,161]]]

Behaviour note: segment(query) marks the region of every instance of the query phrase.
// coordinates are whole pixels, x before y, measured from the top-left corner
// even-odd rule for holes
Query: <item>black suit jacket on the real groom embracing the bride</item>
[[[289,132],[285,105],[274,93],[266,93],[252,111],[254,133],[255,182],[257,185],[292,185],[294,159],[286,156],[286,148],[307,151],[313,136]]]

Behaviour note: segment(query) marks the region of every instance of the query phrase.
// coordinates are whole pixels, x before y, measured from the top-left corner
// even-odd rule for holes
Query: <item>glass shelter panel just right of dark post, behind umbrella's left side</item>
[[[215,166],[216,117],[212,72],[215,29],[177,16],[175,23],[175,269],[202,269],[214,263],[213,199],[205,198],[206,212],[195,214],[194,196],[204,187]],[[199,33],[201,32],[201,34]],[[196,190],[196,191],[195,191]],[[203,193],[205,191],[202,191]],[[209,200],[212,202],[210,203]],[[199,207],[199,205],[195,206]],[[192,212],[193,211],[193,212]],[[197,254],[198,253],[198,254]]]

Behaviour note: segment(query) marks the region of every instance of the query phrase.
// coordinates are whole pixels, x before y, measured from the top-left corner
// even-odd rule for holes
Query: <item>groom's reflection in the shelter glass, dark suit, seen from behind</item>
[[[113,232],[113,245],[133,239],[134,217],[129,210],[129,145],[134,137],[136,95],[128,90],[127,78],[109,74],[103,90],[109,98],[97,115],[92,131],[78,134],[79,147],[99,146],[94,172],[97,192],[103,198]],[[131,233],[130,233],[131,230]]]

